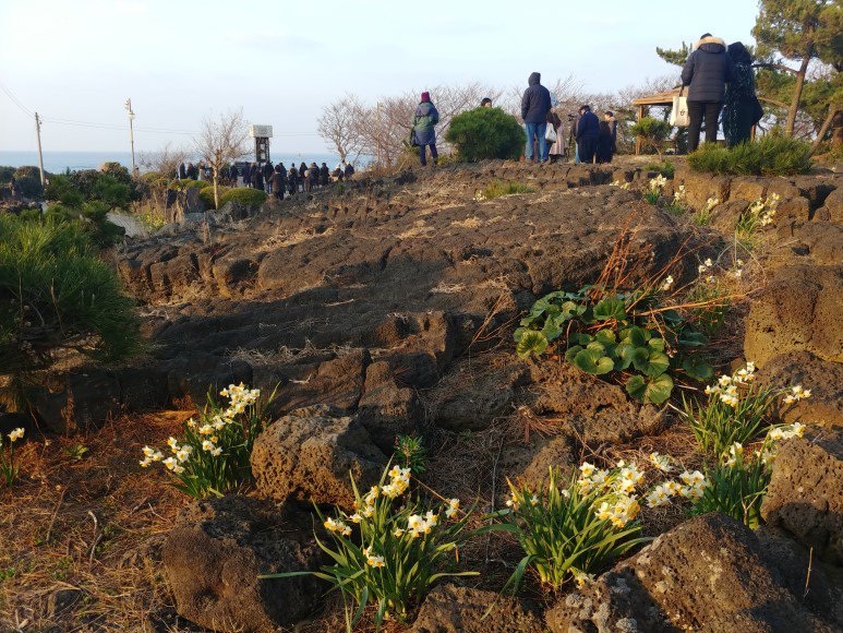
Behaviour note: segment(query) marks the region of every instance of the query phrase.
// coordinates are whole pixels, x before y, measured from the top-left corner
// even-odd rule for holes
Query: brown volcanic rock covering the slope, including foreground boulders
[[[631,236],[630,285],[669,265],[687,283],[706,258],[732,261],[739,215],[778,193],[773,226],[733,280],[746,299],[736,299],[713,345],[718,370],[754,360],[762,381],[812,390],[785,414],[810,430],[788,441],[776,462],[766,527],[652,511],[646,529],[661,536],[643,550],[586,589],[549,596],[532,584],[523,601],[497,598],[515,558],[511,541],[493,538],[466,553],[482,580],[436,588],[411,630],[839,630],[843,177],[712,178],[677,163],[665,195],[684,186],[695,208],[720,201],[710,226],[699,227],[635,191],[653,176],[639,166],[484,163],[361,178],[253,215],[233,210],[210,223],[191,216],[116,253],[141,303],[149,354],[128,366],[51,375],[37,402],[50,430],[79,437],[127,411],[188,409],[209,385],[277,386],[278,421],[255,446],[248,497],[192,505],[179,499],[168,501],[168,512],[149,505],[161,517],[155,529],[172,530],[139,546],[144,564],[164,572],[142,600],[152,616],[137,628],[341,630],[341,605],[320,599],[311,581],[256,575],[317,565],[310,518],[296,502],[348,505],[349,469],[361,480],[375,477],[397,434],[427,440],[429,486],[486,509],[499,503],[506,477],[539,480],[549,466],[570,469],[586,455],[659,450],[693,458],[693,438],[670,408],[641,406],[564,361],[521,361],[511,333],[539,296],[593,283],[624,235]],[[495,180],[532,191],[483,200],[479,193]],[[625,181],[630,190],[611,184]],[[129,480],[142,477],[129,466],[139,445],[156,439],[140,435],[134,428],[124,442],[134,451],[122,467]],[[57,501],[45,492],[57,473],[41,473],[40,493],[31,477],[45,509]],[[68,587],[44,587],[35,599],[17,578],[3,583],[13,616],[0,622],[86,625],[75,601],[49,606],[47,597],[55,602],[56,589]],[[84,585],[74,583],[70,588]],[[494,614],[481,621],[490,608]],[[88,622],[115,626],[107,610],[98,618]]]

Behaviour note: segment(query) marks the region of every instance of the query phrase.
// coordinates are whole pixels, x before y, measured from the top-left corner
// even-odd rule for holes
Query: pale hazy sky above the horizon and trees
[[[36,148],[33,111],[45,151],[128,151],[130,97],[139,152],[189,146],[240,107],[273,126],[274,152],[324,152],[316,119],[346,92],[526,87],[532,71],[612,92],[678,74],[657,46],[752,43],[756,14],[754,0],[0,0],[0,151]]]

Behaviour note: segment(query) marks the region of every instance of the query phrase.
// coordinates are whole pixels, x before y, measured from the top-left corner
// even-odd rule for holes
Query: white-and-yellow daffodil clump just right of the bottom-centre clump
[[[543,584],[557,589],[569,580],[609,566],[649,540],[639,536],[641,526],[635,521],[637,499],[612,486],[613,478],[602,473],[600,485],[594,482],[597,478],[583,477],[559,488],[558,473],[553,468],[546,487],[538,491],[516,489],[509,482],[509,510],[502,514],[526,556],[507,586],[517,589],[527,569],[532,568]]]

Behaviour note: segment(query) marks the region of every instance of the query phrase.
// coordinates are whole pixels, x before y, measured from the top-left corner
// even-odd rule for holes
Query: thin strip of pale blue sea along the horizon
[[[137,154],[135,154],[137,158]],[[292,163],[299,165],[302,160],[310,165],[326,163],[334,169],[339,163],[336,154],[304,153],[301,154],[274,154],[270,153],[273,163],[284,163],[290,167]],[[97,169],[104,163],[117,162],[127,167],[132,167],[132,155],[129,152],[45,152],[44,168],[50,174],[61,174],[68,169]],[[194,163],[197,160],[194,160]],[[37,152],[3,152],[0,151],[0,166],[22,167],[24,165],[38,165]],[[173,175],[174,176],[174,175]]]

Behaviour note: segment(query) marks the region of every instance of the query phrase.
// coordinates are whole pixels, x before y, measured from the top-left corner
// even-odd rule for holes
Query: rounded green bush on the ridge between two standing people
[[[445,140],[457,148],[460,160],[514,158],[521,155],[523,129],[501,108],[475,108],[450,120]]]

